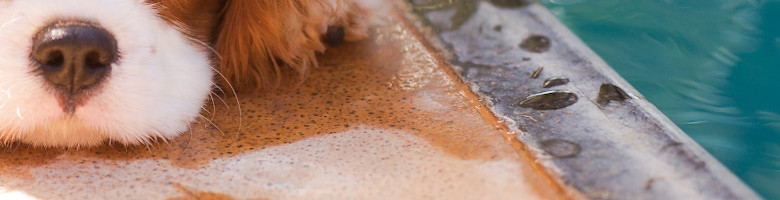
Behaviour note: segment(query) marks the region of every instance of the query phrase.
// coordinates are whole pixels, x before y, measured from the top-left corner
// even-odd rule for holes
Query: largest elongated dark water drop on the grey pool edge
[[[569,91],[547,91],[526,97],[518,105],[536,110],[556,110],[577,102],[577,95]]]

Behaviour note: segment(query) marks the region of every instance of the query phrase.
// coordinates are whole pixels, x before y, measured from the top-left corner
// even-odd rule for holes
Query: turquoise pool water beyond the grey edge
[[[780,199],[780,0],[540,0],[767,199]]]

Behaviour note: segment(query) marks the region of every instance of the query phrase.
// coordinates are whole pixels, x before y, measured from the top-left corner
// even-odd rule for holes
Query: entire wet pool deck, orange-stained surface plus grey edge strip
[[[4,147],[0,199],[758,198],[541,6],[455,26],[437,21],[454,4],[410,2],[369,6],[372,37],[301,85],[214,96],[174,140]]]

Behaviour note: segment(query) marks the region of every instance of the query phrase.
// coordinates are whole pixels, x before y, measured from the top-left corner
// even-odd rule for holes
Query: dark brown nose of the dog
[[[57,22],[33,38],[32,61],[43,77],[73,95],[98,85],[118,57],[111,34],[96,25]]]

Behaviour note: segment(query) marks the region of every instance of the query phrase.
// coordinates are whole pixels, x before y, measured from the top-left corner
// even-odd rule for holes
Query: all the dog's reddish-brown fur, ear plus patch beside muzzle
[[[171,24],[216,52],[215,68],[237,91],[301,77],[315,67],[328,27],[344,40],[367,36],[365,11],[352,0],[148,0]],[[217,77],[217,80],[222,77]],[[223,84],[225,84],[223,82]]]

